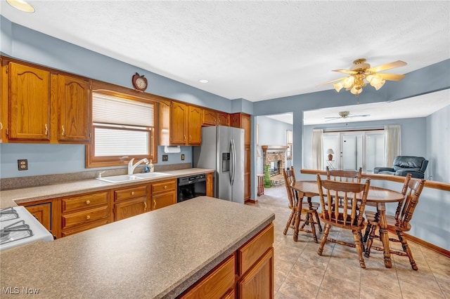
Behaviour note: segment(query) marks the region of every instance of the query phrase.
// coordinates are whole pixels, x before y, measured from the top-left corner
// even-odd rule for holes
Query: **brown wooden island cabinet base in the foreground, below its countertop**
[[[271,223],[179,298],[274,298],[273,244]]]

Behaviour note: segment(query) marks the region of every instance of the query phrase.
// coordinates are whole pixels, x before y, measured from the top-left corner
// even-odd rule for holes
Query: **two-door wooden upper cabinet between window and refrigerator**
[[[159,145],[200,145],[202,112],[200,107],[180,102],[159,104]]]

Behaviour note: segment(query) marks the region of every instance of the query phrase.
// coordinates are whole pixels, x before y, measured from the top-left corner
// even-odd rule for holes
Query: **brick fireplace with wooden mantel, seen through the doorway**
[[[265,173],[269,165],[271,185],[278,186],[284,183],[283,168],[285,168],[286,149],[284,145],[262,145],[262,165]]]

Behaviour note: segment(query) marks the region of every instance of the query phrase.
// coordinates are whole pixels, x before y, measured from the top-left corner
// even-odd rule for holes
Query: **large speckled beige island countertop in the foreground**
[[[86,232],[0,253],[0,286],[44,298],[174,298],[274,220],[197,197]],[[3,292],[2,298],[7,295]]]

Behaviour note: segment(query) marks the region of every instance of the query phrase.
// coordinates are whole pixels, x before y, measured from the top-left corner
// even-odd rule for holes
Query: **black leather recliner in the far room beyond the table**
[[[373,173],[406,176],[411,173],[413,178],[424,178],[428,160],[424,157],[397,156],[394,159],[393,167],[373,168]]]

